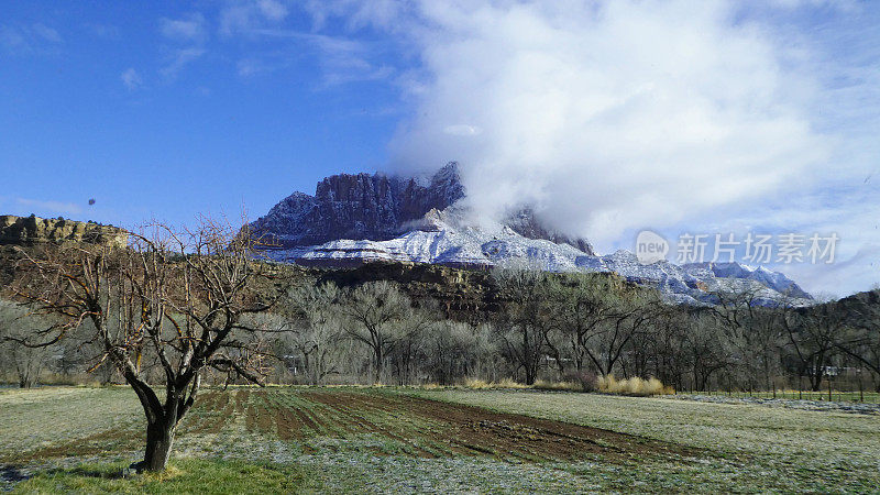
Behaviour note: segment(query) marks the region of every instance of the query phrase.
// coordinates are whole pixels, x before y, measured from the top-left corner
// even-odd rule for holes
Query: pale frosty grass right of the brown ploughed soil
[[[420,391],[419,395],[638,435],[706,449],[698,469],[666,475],[642,463],[634,472],[727,490],[875,491],[880,486],[880,418],[845,413],[713,404],[600,394]],[[678,474],[676,474],[678,473]]]

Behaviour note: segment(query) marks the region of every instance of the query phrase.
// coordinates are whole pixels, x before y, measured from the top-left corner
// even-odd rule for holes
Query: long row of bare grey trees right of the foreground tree
[[[292,380],[452,383],[463,377],[656,376],[680,389],[818,389],[829,373],[880,385],[877,305],[798,308],[746,286],[676,306],[607,274],[495,270],[499,308],[455,322],[391,283],[295,290],[283,306]],[[873,309],[876,311],[876,309]]]

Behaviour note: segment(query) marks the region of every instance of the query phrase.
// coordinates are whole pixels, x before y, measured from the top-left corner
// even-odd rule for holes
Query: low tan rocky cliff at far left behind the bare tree
[[[107,243],[124,246],[128,243],[128,235],[122,229],[95,222],[34,216],[0,216],[0,245],[59,244],[63,242]]]

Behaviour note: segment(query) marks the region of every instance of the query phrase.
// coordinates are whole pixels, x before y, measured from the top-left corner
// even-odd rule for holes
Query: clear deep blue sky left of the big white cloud
[[[323,66],[307,40],[222,34],[221,4],[1,6],[3,212],[124,226],[242,204],[262,215],[387,161],[396,88]],[[296,9],[285,26],[309,30]],[[244,68],[263,58],[275,66]]]

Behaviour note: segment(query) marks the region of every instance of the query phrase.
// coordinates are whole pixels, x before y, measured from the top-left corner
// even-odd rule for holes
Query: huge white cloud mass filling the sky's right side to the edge
[[[866,263],[876,220],[859,215],[876,197],[853,190],[880,153],[880,45],[860,4],[307,6],[317,29],[341,16],[416,54],[398,79],[411,112],[391,143],[395,166],[458,160],[479,212],[532,202],[605,252],[641,228],[836,230],[850,263],[793,270],[813,289],[880,279]]]

